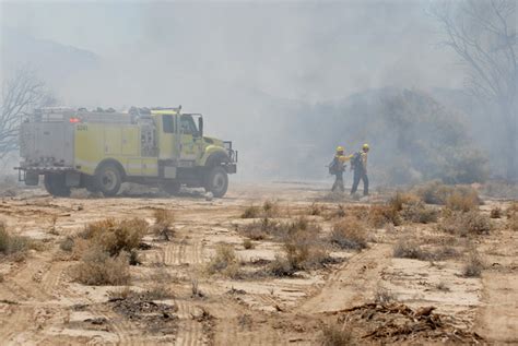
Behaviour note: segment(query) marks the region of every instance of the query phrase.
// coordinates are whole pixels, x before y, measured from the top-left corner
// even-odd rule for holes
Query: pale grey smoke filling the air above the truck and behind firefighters
[[[382,87],[416,88],[446,93],[443,98],[458,106],[450,91],[462,86],[463,71],[437,45],[427,4],[3,3],[2,70],[32,62],[72,106],[181,104],[205,115],[210,134],[235,141],[242,177],[322,179],[335,144],[352,151],[392,136],[368,126],[364,133],[346,131],[375,119],[337,106],[348,98]],[[52,58],[42,65],[40,56],[16,50],[17,40],[5,34],[12,32],[81,48],[75,52],[90,60],[75,65],[79,56],[63,55],[73,62]],[[337,129],[344,129],[342,136]],[[379,154],[373,155],[387,163],[401,156],[398,150],[404,148],[374,147]]]

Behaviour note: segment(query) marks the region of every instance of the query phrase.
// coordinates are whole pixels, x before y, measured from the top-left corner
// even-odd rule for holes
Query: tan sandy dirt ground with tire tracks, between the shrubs
[[[415,311],[423,307],[435,308],[434,314],[445,329],[443,341],[390,335],[357,343],[455,343],[456,336],[447,337],[451,334],[459,335],[459,343],[518,344],[518,234],[506,229],[505,219],[493,219],[491,232],[473,240],[484,260],[481,277],[460,274],[463,256],[444,261],[393,258],[393,244],[402,237],[429,247],[462,247],[462,239],[438,231],[434,224],[373,229],[367,249],[333,249],[333,263],[289,277],[232,279],[205,273],[221,242],[234,246],[248,271],[260,271],[257,263],[272,261],[282,252],[274,240],[258,240],[254,249],[244,248],[245,237],[238,228],[251,222],[240,217],[249,205],[274,200],[285,213],[280,217],[307,215],[321,226],[322,234],[329,232],[331,222],[308,212],[314,203],[323,210],[338,208],[337,201],[326,201],[326,188],[239,183],[224,199],[213,201],[201,193],[116,199],[79,193],[55,199],[43,190],[27,190],[4,196],[0,219],[12,232],[40,240],[43,248],[31,250],[22,261],[0,259],[0,344],[318,345],[322,327],[330,323],[351,321],[355,335],[362,337],[362,331],[369,331],[378,317],[399,309],[401,317],[412,314],[412,321],[417,321]],[[339,203],[346,208],[384,199],[384,193],[375,192],[368,200]],[[508,204],[486,200],[481,210],[488,214],[494,206],[505,208]],[[166,310],[170,307],[173,313],[161,312],[161,322],[152,324],[120,313],[108,301],[108,291],[121,287],[75,282],[78,262],[70,260],[59,243],[87,223],[107,217],[141,217],[151,225],[155,208],[174,213],[175,234],[169,241],[144,237],[149,247],[139,250],[142,264],[131,266],[130,285],[133,290],[144,290],[163,281],[174,293],[174,298],[153,302]],[[196,287],[200,294],[193,295]],[[373,305],[380,293],[387,293],[395,302],[392,308],[399,308]]]

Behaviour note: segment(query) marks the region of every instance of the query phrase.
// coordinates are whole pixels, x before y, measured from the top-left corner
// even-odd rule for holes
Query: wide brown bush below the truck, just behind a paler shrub
[[[92,244],[101,246],[110,255],[117,255],[121,251],[131,252],[142,241],[148,231],[148,223],[141,218],[132,218],[117,222],[107,218],[86,225],[80,237],[89,240]]]

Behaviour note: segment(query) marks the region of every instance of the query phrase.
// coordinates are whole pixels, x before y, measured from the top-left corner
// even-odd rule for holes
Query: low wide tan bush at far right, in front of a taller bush
[[[438,224],[440,230],[461,237],[469,235],[488,234],[491,222],[486,215],[479,211],[449,212]]]

